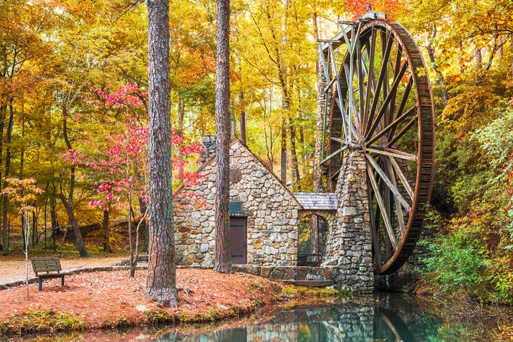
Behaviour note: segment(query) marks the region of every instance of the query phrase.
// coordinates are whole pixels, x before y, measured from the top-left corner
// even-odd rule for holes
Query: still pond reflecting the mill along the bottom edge
[[[251,317],[189,327],[160,326],[25,336],[39,341],[501,341],[499,327],[513,331],[512,308],[462,301],[435,305],[405,295],[379,295],[331,305],[264,309]],[[25,338],[21,338],[25,340]],[[507,338],[507,339],[506,339]],[[0,341],[4,341],[1,338]]]

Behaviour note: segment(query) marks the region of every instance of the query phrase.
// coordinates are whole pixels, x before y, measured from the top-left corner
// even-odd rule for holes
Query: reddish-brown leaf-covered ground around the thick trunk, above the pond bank
[[[145,314],[138,310],[143,305],[158,310],[160,305],[142,295],[146,271],[136,272],[130,278],[128,271],[90,272],[60,279],[47,279],[43,291],[31,284],[30,300],[25,298],[25,288],[13,287],[0,291],[0,322],[12,319],[27,311],[53,310],[70,315],[80,315],[89,329],[117,322],[119,317],[141,322]],[[208,310],[245,308],[258,301],[270,303],[280,287],[268,279],[244,274],[223,275],[212,270],[176,270],[176,284],[180,304],[178,308],[166,308],[167,313],[194,314]]]

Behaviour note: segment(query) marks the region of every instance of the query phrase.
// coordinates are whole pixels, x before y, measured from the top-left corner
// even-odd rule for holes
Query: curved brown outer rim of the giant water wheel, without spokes
[[[429,84],[429,77],[427,76],[427,67],[424,63],[424,60],[422,59],[420,50],[410,33],[397,22],[389,22],[387,20],[372,20],[371,22],[368,22],[361,27],[361,36],[359,36],[358,39],[361,39],[362,41],[369,39],[368,36],[372,34],[372,30],[374,29],[380,30],[379,32],[381,32],[381,30],[385,30],[385,32],[388,34],[393,34],[393,39],[395,39],[395,41],[397,41],[402,48],[401,53],[405,55],[405,59],[408,61],[408,70],[410,72],[410,77],[413,84],[412,88],[414,88],[415,91],[415,116],[417,117],[417,172],[415,175],[415,190],[410,206],[411,210],[408,214],[408,222],[405,223],[405,227],[401,232],[401,239],[397,241],[397,247],[394,248],[393,255],[389,257],[387,256],[388,259],[383,264],[376,263],[375,261],[375,273],[378,275],[387,275],[401,268],[405,261],[408,260],[410,255],[413,253],[417,239],[420,237],[422,232],[422,223],[424,221],[425,211],[427,209],[426,204],[429,203],[432,183],[434,180],[434,107],[432,101],[431,86]],[[394,41],[392,41],[392,43],[394,43]],[[341,84],[344,84],[344,79],[346,77],[345,67],[348,58],[349,53],[347,53],[344,57],[344,63],[342,63],[342,67],[339,70],[339,79],[343,80],[340,81]],[[355,61],[355,63],[358,63],[358,61]],[[419,72],[421,68],[424,70],[424,74]],[[388,74],[388,72],[386,73]],[[345,90],[341,91],[341,93],[347,94],[349,91]],[[381,93],[377,94],[378,97],[380,95]],[[396,98],[394,98],[394,102],[395,101]],[[331,112],[330,119],[330,152],[336,148],[340,148],[340,146],[336,146],[335,148],[332,147],[332,138],[334,135],[334,125],[332,124],[332,121],[334,118],[335,106],[337,106],[337,96],[335,96],[333,99],[333,103],[334,108]],[[344,107],[344,105],[342,107]],[[393,114],[394,113],[392,113],[392,116]],[[344,113],[342,111],[341,115],[344,117]],[[351,117],[349,117],[349,121],[351,121]],[[370,121],[372,121],[372,118]],[[342,135],[344,135],[344,133],[342,133]],[[332,162],[330,162],[330,165]],[[368,162],[370,162],[370,160]],[[368,176],[368,179],[370,179],[370,176]],[[369,202],[371,206],[371,198]],[[373,210],[372,206],[371,210]],[[375,229],[377,230],[377,227]],[[377,237],[373,237],[373,239],[377,239]],[[373,246],[374,243],[375,242],[373,242]]]

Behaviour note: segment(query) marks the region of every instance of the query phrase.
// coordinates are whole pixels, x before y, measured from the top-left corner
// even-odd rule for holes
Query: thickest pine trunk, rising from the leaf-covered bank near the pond
[[[148,0],[148,278],[144,295],[176,307],[171,116],[169,1]]]

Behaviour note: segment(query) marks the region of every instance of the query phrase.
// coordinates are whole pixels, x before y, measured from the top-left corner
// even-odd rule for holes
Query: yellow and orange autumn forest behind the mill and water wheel
[[[431,285],[441,294],[513,303],[513,4],[230,6],[232,136],[294,191],[313,191],[316,39],[368,10],[387,13],[415,36],[436,104]],[[215,10],[211,0],[170,3],[174,185],[197,181],[199,142],[215,133]],[[32,249],[44,246],[46,228],[63,226],[81,255],[126,248],[113,222],[135,226],[145,213],[146,13],[141,0],[0,2],[1,186],[33,178],[43,191],[29,215],[1,196],[4,254],[21,249],[24,221]],[[93,224],[103,225],[100,238],[80,246],[77,233]]]

